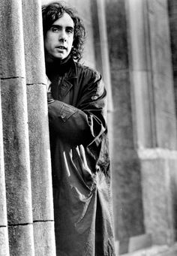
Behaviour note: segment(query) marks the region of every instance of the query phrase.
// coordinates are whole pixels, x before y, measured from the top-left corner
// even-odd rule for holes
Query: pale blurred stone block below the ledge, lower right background
[[[171,244],[175,239],[170,155],[170,152],[163,154],[151,149],[151,155],[141,160],[145,230],[151,233],[155,244]]]

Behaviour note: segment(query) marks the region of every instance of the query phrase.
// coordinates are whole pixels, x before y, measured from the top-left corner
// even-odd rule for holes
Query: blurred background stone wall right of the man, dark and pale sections
[[[166,1],[108,1],[119,253],[175,242],[176,116]],[[148,236],[150,235],[150,236]]]

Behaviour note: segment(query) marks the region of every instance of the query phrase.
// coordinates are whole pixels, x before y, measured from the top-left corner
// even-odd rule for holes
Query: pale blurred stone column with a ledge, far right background
[[[176,226],[177,137],[166,0],[128,0],[127,20],[145,232],[151,233],[154,244],[171,244]]]

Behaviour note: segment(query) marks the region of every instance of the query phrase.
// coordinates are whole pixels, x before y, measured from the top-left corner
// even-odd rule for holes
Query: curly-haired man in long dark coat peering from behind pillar
[[[107,93],[78,62],[80,18],[58,2],[42,11],[57,255],[113,256]]]

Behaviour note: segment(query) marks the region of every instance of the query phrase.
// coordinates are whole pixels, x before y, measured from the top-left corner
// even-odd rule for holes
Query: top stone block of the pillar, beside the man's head
[[[26,83],[45,81],[43,29],[40,1],[23,0],[23,33],[26,56]]]

